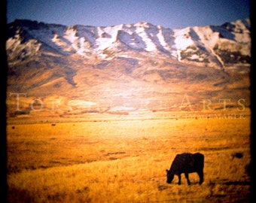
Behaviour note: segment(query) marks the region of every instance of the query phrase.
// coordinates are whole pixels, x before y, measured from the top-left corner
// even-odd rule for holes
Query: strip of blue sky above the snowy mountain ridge
[[[249,0],[8,0],[8,23],[37,20],[66,26],[146,21],[171,29],[221,25],[250,17]]]

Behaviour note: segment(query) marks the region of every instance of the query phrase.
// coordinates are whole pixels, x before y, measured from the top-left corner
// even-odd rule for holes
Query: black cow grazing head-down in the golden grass
[[[190,185],[189,173],[197,172],[200,177],[199,183],[203,183],[204,156],[202,153],[181,153],[175,156],[171,168],[166,170],[167,183],[171,183],[174,175],[178,175],[178,184],[181,184],[181,174],[185,174],[187,184]]]

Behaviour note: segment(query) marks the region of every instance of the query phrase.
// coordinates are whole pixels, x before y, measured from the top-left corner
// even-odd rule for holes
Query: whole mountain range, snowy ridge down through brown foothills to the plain
[[[58,105],[58,114],[177,111],[184,102],[195,110],[203,101],[214,109],[226,98],[233,108],[239,99],[249,105],[248,19],[184,29],[15,20],[6,49],[10,111],[14,93],[26,94],[23,108],[35,110],[37,98],[45,111]]]

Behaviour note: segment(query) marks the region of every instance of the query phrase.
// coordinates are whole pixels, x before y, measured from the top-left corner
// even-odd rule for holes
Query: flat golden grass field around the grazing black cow
[[[249,201],[250,116],[54,124],[8,124],[10,202]],[[204,154],[202,185],[166,183],[184,152]]]

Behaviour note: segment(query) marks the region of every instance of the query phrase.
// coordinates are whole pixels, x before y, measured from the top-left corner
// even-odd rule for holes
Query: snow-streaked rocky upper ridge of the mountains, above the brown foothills
[[[228,64],[248,63],[251,57],[248,19],[184,29],[168,29],[146,22],[95,27],[15,20],[8,24],[8,32],[9,62],[41,53],[112,59],[139,52],[224,68]]]

